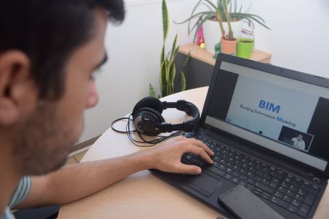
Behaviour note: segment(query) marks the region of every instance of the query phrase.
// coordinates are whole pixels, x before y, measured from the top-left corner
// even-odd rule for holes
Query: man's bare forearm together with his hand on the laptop
[[[213,164],[214,153],[201,141],[182,136],[162,146],[131,155],[64,166],[42,177],[32,177],[32,189],[17,208],[65,204],[93,194],[135,172],[155,168],[164,172],[200,174],[199,166],[181,163],[184,153],[200,155]]]

